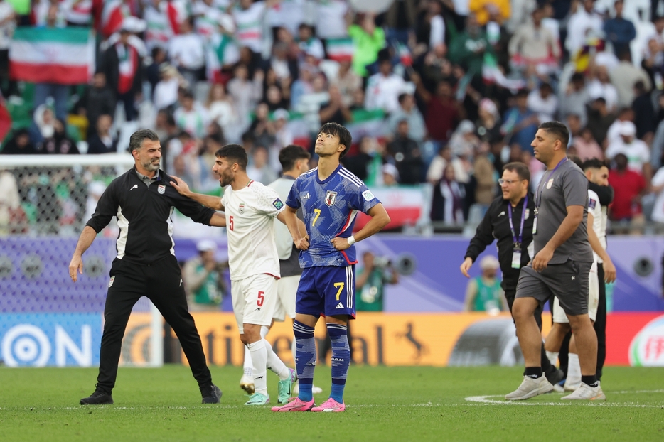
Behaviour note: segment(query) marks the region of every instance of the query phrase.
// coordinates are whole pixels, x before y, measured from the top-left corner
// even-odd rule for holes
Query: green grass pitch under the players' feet
[[[166,366],[121,368],[114,405],[79,406],[96,369],[0,368],[0,441],[664,441],[663,368],[607,367],[603,404],[560,404],[562,394],[504,404],[521,368],[350,367],[336,414],[243,406],[241,369],[211,370],[218,405],[200,404],[187,367]],[[276,401],[277,377],[268,382]],[[328,367],[315,383],[319,404]]]

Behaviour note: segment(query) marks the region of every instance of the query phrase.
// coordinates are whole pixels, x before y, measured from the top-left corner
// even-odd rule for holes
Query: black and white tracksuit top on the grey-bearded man
[[[174,256],[173,207],[200,224],[210,225],[215,211],[180,195],[170,181],[160,170],[159,178],[147,186],[134,166],[115,178],[102,194],[87,225],[99,233],[117,217],[117,259],[149,265]]]

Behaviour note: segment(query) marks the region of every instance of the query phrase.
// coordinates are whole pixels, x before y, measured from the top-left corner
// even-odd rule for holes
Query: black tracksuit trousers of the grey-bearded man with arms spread
[[[132,308],[141,296],[147,296],[154,303],[175,331],[198,386],[211,384],[212,377],[205,362],[203,345],[187,308],[187,298],[176,257],[169,255],[149,265],[115,259],[110,275],[113,281],[108,289],[104,308],[106,322],[102,335],[97,388],[110,394],[115,387],[124,330],[127,328]]]

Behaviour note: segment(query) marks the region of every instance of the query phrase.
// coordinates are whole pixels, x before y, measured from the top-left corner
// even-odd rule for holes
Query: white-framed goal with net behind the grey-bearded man
[[[83,255],[76,283],[68,267],[97,200],[133,165],[128,153],[0,157],[0,362],[98,365],[116,221]],[[161,365],[163,329],[159,311],[141,298],[121,365]]]

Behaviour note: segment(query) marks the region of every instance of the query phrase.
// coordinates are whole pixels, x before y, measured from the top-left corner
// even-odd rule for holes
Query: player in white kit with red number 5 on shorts
[[[251,353],[255,392],[245,405],[269,403],[266,367],[279,376],[279,404],[291,397],[297,379],[295,370],[286,367],[262,338],[262,326],[272,323],[277,302],[279,257],[274,240],[274,218],[284,222],[284,203],[277,191],[247,176],[247,152],[239,144],[228,144],[216,153],[213,171],[224,188],[223,198],[201,195],[189,190],[178,177],[171,177],[174,188],[198,203],[224,210],[228,235],[233,311],[240,339]]]

